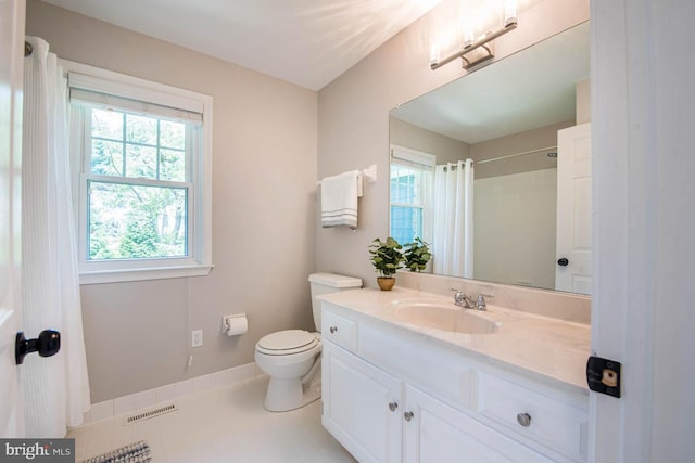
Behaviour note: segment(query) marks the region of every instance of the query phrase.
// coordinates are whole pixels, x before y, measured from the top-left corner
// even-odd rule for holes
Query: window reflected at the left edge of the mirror
[[[434,156],[391,146],[391,236],[399,243],[430,241],[429,196]]]

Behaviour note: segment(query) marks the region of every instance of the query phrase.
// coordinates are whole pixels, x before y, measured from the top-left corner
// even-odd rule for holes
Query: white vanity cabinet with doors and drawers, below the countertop
[[[323,303],[324,426],[359,462],[584,462],[587,396]]]

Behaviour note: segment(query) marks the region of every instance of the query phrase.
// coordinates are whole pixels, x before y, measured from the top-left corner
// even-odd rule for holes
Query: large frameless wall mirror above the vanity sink
[[[391,235],[433,273],[589,294],[589,77],[586,22],[393,108]]]

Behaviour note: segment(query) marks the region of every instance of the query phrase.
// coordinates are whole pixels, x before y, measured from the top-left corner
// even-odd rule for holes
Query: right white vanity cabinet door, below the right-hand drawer
[[[405,397],[405,463],[552,462],[414,387]]]

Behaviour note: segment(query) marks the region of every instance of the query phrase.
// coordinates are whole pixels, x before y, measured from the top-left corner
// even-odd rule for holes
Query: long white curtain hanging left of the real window
[[[66,80],[48,43],[27,37],[24,60],[22,253],[24,330],[61,333],[53,357],[27,356],[20,369],[29,437],[63,437],[89,409],[77,242],[67,151]]]

